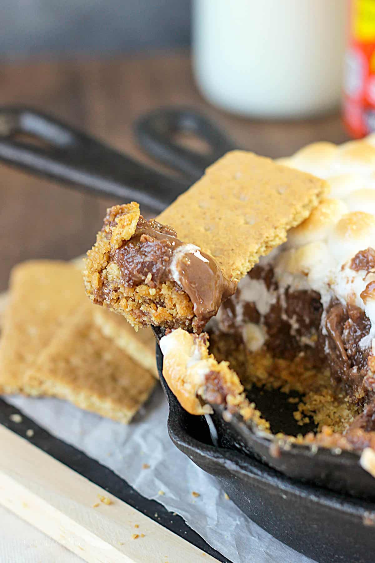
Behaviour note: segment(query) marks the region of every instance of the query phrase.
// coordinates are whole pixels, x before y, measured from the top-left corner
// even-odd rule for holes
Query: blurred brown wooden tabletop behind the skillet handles
[[[186,52],[0,64],[0,104],[23,104],[102,138],[142,160],[132,124],[144,111],[165,105],[203,110],[243,148],[270,157],[293,153],[318,140],[342,142],[340,116],[300,122],[233,117],[200,96]],[[27,258],[68,259],[94,242],[105,208],[115,202],[78,193],[0,164],[0,289],[11,267]]]

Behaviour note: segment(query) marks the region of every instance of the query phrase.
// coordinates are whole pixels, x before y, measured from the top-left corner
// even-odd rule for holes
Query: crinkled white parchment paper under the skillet
[[[144,497],[177,512],[233,563],[311,563],[243,515],[225,499],[214,477],[175,448],[168,436],[168,404],[161,388],[129,426],[58,399],[4,399],[51,434],[111,468]],[[142,469],[144,463],[150,468]],[[200,496],[193,497],[192,491]]]

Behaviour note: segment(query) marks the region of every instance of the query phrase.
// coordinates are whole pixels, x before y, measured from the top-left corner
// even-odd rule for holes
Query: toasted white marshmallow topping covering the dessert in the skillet
[[[360,344],[375,354],[375,291],[363,293],[375,272],[350,267],[358,252],[375,248],[375,133],[341,146],[313,143],[279,162],[326,178],[330,190],[269,261],[279,292],[314,289],[323,307],[332,298],[360,307],[371,320]]]

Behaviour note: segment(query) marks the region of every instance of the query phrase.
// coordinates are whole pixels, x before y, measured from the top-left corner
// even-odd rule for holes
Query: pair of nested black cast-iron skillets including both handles
[[[0,109],[0,159],[79,189],[114,195],[120,203],[135,199],[143,209],[156,213],[197,180],[209,164],[236,148],[213,123],[188,109],[153,111],[137,122],[135,132],[148,154],[182,177],[147,168],[27,108]],[[206,150],[186,148],[176,140],[180,136],[200,138]],[[159,339],[162,331],[154,332]],[[225,422],[217,407],[211,419],[215,430],[210,435],[205,419],[184,412],[169,391],[161,375],[159,347],[157,354],[170,403],[171,439],[205,471],[224,481],[225,490],[243,512],[315,560],[373,561],[375,538],[367,525],[375,525],[375,481],[360,467],[358,455],[323,448],[313,454],[308,446],[292,445],[274,457],[269,437],[239,418]],[[275,432],[300,431],[281,393],[272,392],[272,400],[265,401],[252,390],[250,397]],[[285,502],[288,498],[292,502]],[[340,534],[335,534],[338,529]]]

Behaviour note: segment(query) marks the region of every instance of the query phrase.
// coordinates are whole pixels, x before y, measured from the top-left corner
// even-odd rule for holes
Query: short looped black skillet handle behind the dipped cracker
[[[187,149],[174,141],[178,133],[195,135],[205,141],[209,152]],[[183,172],[191,181],[204,175],[215,160],[237,146],[213,122],[191,109],[157,109],[135,123],[139,145],[151,157]]]

